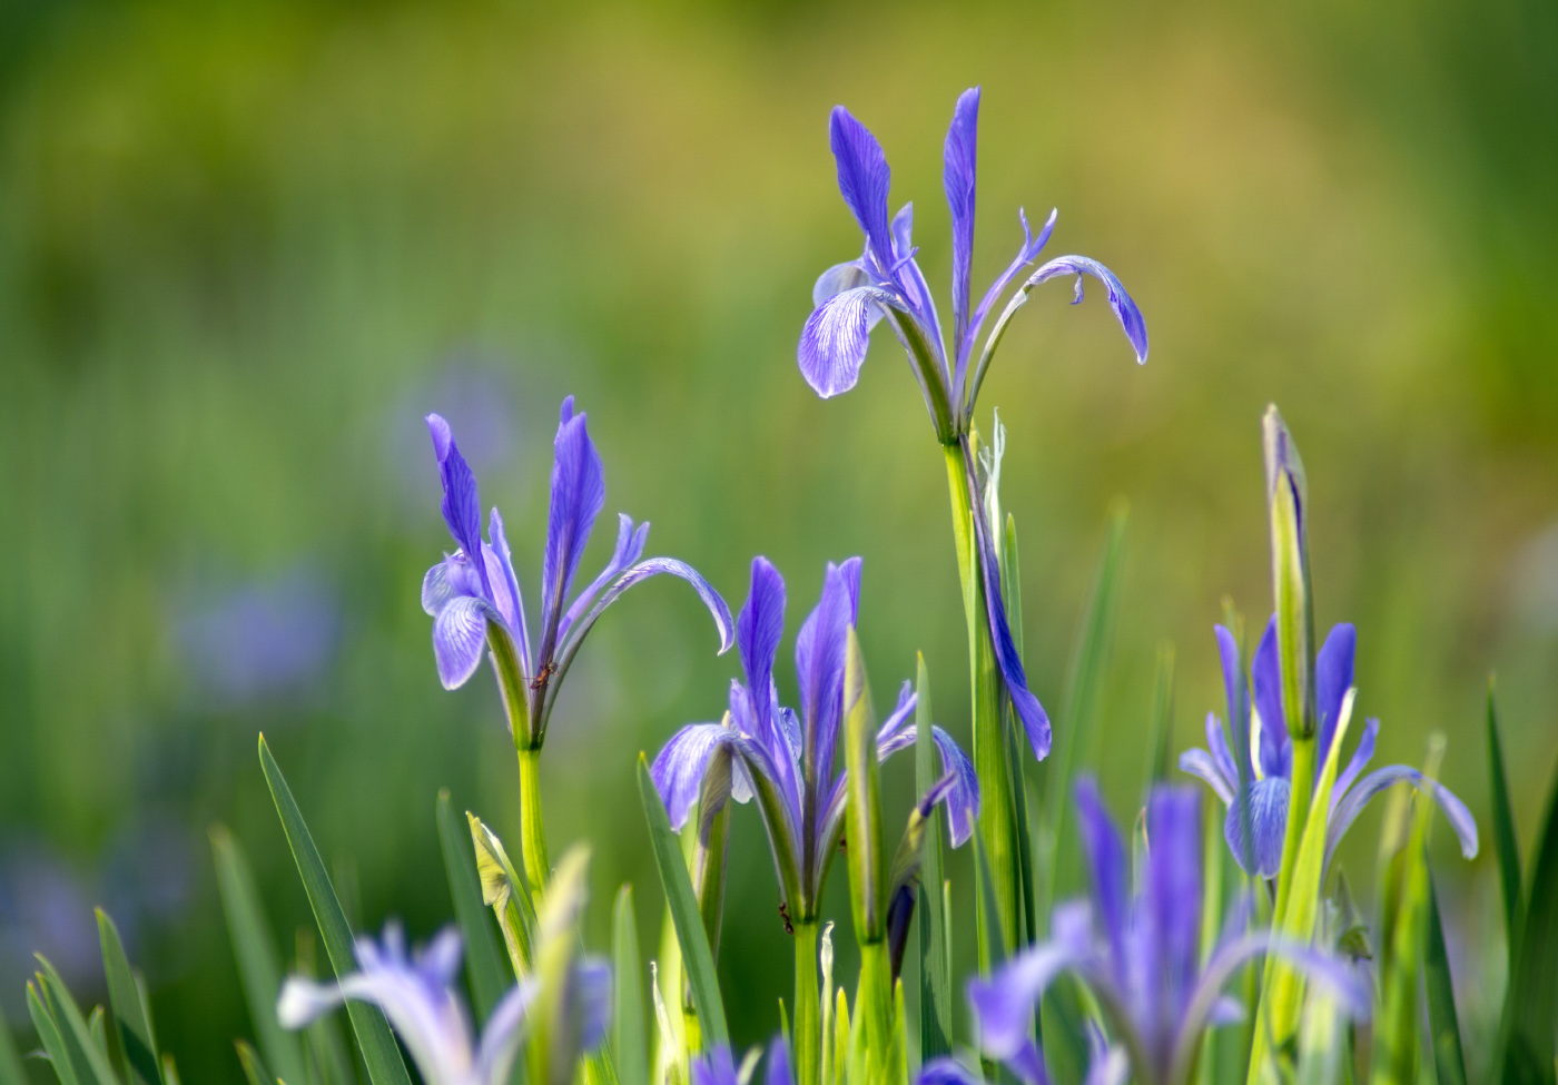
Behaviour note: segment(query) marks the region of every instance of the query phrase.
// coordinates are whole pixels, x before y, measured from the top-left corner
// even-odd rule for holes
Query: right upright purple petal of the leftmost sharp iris
[[[573,396],[562,401],[561,416],[553,441],[547,549],[541,561],[541,620],[547,627],[542,653],[555,644],[573,574],[584,557],[595,516],[606,504],[606,474],[589,440],[586,416],[573,413]]]

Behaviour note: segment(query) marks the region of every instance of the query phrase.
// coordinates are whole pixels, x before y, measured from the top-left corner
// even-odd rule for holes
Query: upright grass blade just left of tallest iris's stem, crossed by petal
[[[936,783],[935,747],[930,737],[930,672],[921,655],[915,667],[915,790],[924,795]],[[925,857],[919,887],[919,1057],[929,1062],[952,1054],[952,962],[946,949],[946,914],[941,909],[939,803],[925,826]],[[832,1013],[832,991],[824,991],[824,1012]],[[827,1035],[824,1026],[823,1035]]]

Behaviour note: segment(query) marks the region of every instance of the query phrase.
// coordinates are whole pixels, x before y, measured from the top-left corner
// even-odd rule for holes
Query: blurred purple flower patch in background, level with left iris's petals
[[[241,705],[312,686],[335,655],[341,614],[333,586],[298,566],[187,606],[174,630],[198,686]]]

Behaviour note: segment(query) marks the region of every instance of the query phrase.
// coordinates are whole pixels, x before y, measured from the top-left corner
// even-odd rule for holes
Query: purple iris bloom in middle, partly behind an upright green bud
[[[717,759],[729,762],[729,797],[738,803],[757,797],[788,915],[799,923],[816,920],[844,828],[846,773],[835,772],[834,756],[843,722],[844,647],[858,606],[860,558],[840,566],[829,563],[823,597],[795,641],[801,686],[796,716],[779,705],[773,678],[784,634],[784,577],[767,558],[754,558],[751,594],[735,624],[746,684],[732,680],[724,719],[684,726],[650,767],[671,826],[679,829]],[[897,706],[877,731],[879,761],[915,745],[916,703],[913,686],[905,681]],[[957,742],[939,726],[932,734],[941,769],[952,775],[941,801],[957,848],[978,812],[978,781]]]

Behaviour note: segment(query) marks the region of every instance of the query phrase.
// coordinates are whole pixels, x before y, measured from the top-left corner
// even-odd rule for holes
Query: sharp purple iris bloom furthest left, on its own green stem
[[[617,549],[611,561],[569,602],[584,544],[606,504],[600,455],[589,440],[584,415],[573,413],[572,396],[562,401],[555,441],[552,510],[541,566],[541,625],[531,641],[519,578],[503,538],[503,518],[492,510],[488,538],[483,539],[477,480],[460,455],[449,422],[428,415],[427,429],[433,435],[444,483],[444,521],[460,544],[422,578],[422,610],[433,616],[438,677],[446,689],[463,686],[475,673],[486,647],[516,742],[541,747],[562,677],[580,645],[601,613],[640,580],[668,572],[690,583],[714,616],[720,653],[731,647],[731,611],[720,594],[692,566],[675,558],[640,561],[650,525],[634,527],[633,518],[625,513],[619,514]],[[472,561],[471,555],[481,555],[481,561]]]

